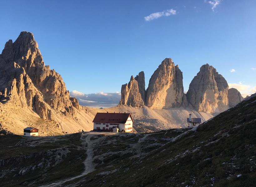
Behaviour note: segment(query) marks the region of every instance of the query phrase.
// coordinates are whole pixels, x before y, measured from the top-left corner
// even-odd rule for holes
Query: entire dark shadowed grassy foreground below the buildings
[[[37,140],[15,135],[2,136],[0,140],[8,141],[8,144],[3,146],[1,143],[0,184],[254,186],[255,116],[256,97],[253,97],[203,123],[197,129],[123,135],[74,134],[72,138],[55,137],[56,141],[53,141],[54,137],[51,140],[38,137]],[[45,147],[45,144],[49,147]],[[34,148],[16,150],[20,146]],[[59,148],[68,150],[67,154],[53,155],[54,161],[48,157],[42,160],[42,154]],[[74,155],[72,150],[77,150],[77,154]],[[10,154],[4,154],[6,152]],[[25,159],[31,152],[38,156]],[[50,163],[48,168],[38,167],[40,163],[45,166],[47,161]],[[79,167],[74,168],[74,165]]]

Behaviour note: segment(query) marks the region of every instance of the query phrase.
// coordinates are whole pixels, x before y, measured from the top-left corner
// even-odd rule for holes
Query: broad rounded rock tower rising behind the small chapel
[[[191,81],[186,95],[197,111],[220,113],[229,108],[228,90],[224,77],[213,66],[206,64]]]

